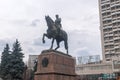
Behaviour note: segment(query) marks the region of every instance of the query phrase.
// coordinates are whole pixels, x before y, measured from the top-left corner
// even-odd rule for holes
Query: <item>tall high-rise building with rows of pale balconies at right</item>
[[[120,0],[99,0],[102,55],[110,61],[120,55]]]

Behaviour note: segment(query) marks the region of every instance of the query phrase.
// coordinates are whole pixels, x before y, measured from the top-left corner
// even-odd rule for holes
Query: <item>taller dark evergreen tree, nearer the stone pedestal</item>
[[[24,62],[23,62],[23,53],[20,47],[20,43],[18,40],[13,44],[11,54],[11,69],[10,74],[12,75],[12,80],[22,80],[23,72],[24,72]]]

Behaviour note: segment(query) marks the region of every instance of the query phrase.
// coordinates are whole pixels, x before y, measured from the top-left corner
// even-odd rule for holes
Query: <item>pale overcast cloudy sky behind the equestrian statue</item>
[[[70,55],[101,55],[98,0],[0,0],[0,53],[6,43],[12,49],[16,39],[26,59],[49,49],[50,39],[42,43],[45,15],[55,20],[56,14],[68,34]],[[58,50],[65,53],[63,42],[60,46]]]

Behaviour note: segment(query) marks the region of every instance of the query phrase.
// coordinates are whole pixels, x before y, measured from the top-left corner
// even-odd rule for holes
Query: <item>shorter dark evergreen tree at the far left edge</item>
[[[6,44],[2,52],[1,57],[1,66],[0,66],[0,75],[1,77],[6,80],[7,75],[9,74],[9,62],[10,62],[10,54],[9,54],[9,45]]]

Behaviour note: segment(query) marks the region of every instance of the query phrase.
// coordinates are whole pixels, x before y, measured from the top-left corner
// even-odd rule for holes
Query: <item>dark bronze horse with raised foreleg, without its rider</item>
[[[64,46],[65,46],[65,49],[66,49],[67,54],[68,54],[68,36],[67,36],[67,33],[61,29],[60,29],[60,33],[59,33],[59,31],[55,25],[55,22],[49,16],[45,16],[45,20],[46,20],[48,29],[47,29],[47,33],[43,34],[43,38],[42,38],[43,43],[45,43],[45,39],[44,39],[45,36],[48,39],[52,39],[52,44],[50,47],[50,49],[52,49],[54,40],[56,40],[57,47],[55,48],[55,50],[57,50],[60,47],[59,43],[61,41],[64,41]]]

